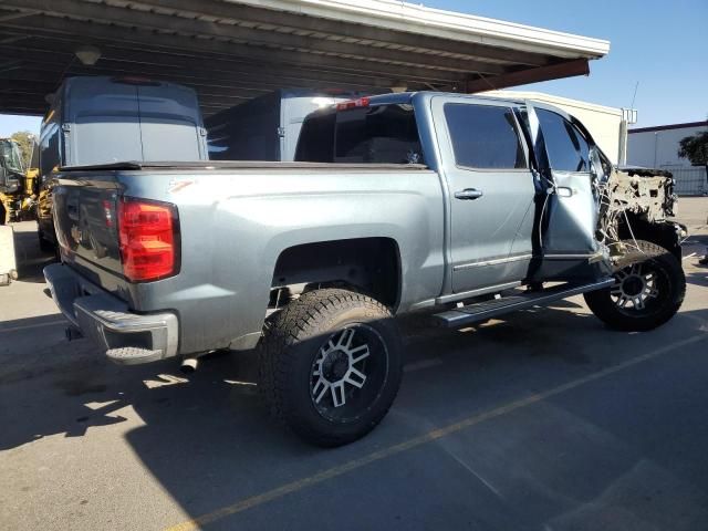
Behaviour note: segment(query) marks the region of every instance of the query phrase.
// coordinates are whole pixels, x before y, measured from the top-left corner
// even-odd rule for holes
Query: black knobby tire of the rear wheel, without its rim
[[[356,418],[335,421],[315,407],[312,367],[332,334],[347,326],[365,326],[382,340],[386,374],[378,372],[381,385],[375,384],[373,402]],[[348,290],[314,290],[292,301],[267,321],[258,350],[259,389],[271,414],[323,447],[346,445],[374,429],[391,408],[403,375],[400,339],[391,311]],[[367,392],[372,393],[371,386]]]

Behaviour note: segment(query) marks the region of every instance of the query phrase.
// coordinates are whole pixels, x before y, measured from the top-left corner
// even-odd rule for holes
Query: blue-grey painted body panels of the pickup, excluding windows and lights
[[[528,113],[528,124],[519,121],[516,127],[525,127],[521,136],[529,167],[490,171],[456,166],[442,115],[449,102]],[[598,177],[548,169],[540,175],[534,158],[543,145],[532,105],[440,93],[371,98],[371,105],[399,103],[415,108],[427,167],[176,163],[66,168],[54,188],[62,260],[135,313],[174,313],[178,354],[254,346],[278,258],[306,243],[394,241],[399,254],[396,313],[529,281],[592,282],[606,275],[606,269],[589,261],[600,248],[593,190]],[[570,188],[571,196],[561,197],[561,187]],[[470,188],[483,196],[456,198]],[[146,283],[124,279],[116,228],[105,223],[105,201],[114,209],[122,196],[177,206],[178,274]]]

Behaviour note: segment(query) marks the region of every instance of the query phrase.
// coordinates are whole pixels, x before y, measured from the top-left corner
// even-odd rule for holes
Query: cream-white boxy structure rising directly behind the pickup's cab
[[[481,93],[481,95],[535,100],[555,105],[575,116],[587,127],[610,160],[618,165],[626,164],[627,124],[624,122],[625,113],[622,108],[531,91],[489,91]]]

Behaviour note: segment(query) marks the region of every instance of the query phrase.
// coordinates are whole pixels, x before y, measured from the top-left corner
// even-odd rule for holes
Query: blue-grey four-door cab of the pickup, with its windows
[[[612,166],[561,110],[469,95],[372,96],[313,113],[296,158],[434,169],[448,208],[439,301],[603,274],[598,186]]]

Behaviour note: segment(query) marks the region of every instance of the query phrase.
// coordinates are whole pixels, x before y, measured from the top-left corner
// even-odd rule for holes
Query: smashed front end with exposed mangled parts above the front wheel
[[[645,168],[613,169],[598,185],[600,216],[596,238],[613,263],[636,249],[636,241],[656,243],[681,259],[686,227],[671,221],[677,197],[670,173]]]

